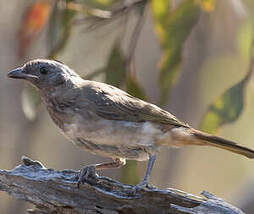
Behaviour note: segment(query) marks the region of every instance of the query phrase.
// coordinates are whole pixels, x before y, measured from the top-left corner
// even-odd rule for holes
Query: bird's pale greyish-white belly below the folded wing
[[[65,135],[91,153],[111,158],[147,160],[156,153],[161,131],[149,122],[114,120],[65,124]]]

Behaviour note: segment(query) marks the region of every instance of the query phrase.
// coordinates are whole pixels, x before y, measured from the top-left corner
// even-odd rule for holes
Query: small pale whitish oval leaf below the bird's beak
[[[38,91],[30,85],[25,86],[21,94],[21,104],[27,119],[34,120],[36,118],[40,103]]]

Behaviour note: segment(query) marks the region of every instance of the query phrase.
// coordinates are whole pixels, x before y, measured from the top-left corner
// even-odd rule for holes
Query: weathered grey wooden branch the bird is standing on
[[[22,161],[13,170],[0,170],[0,190],[33,203],[30,213],[243,213],[207,192],[202,198],[175,189],[137,189],[107,177],[78,189],[77,172],[47,169],[26,157]]]

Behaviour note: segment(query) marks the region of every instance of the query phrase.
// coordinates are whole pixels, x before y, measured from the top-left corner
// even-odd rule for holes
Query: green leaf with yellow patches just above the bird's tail
[[[249,77],[248,73],[243,80],[214,100],[200,124],[202,131],[214,134],[222,125],[238,119],[244,107],[244,91]]]

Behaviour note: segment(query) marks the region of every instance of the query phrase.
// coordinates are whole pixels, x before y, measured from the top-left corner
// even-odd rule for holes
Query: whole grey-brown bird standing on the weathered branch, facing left
[[[204,133],[181,122],[162,108],[102,82],[85,80],[62,62],[34,59],[7,76],[35,86],[54,123],[73,144],[111,158],[83,167],[77,185],[97,176],[98,170],[119,168],[126,160],[147,161],[149,177],[163,146],[213,146],[254,158],[254,151],[231,140]]]

